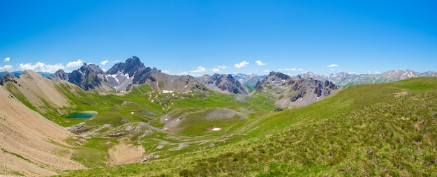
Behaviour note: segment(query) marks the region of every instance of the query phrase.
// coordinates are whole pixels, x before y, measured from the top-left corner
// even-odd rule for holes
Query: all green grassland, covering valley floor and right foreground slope
[[[105,156],[120,139],[105,136],[105,131],[111,130],[102,130],[100,136],[68,139],[75,147],[72,159],[89,169],[64,171],[61,176],[437,173],[437,78],[348,86],[306,107],[279,112],[273,111],[274,100],[256,94],[158,93],[145,85],[132,86],[124,95],[73,94],[69,88],[59,89],[70,94],[72,106],[63,109],[95,110],[98,114],[89,119],[66,119],[52,110],[43,114],[50,120],[63,126],[85,122],[115,128],[147,123],[144,128],[151,134],[127,134],[125,138],[144,146],[147,153],[159,155],[147,162],[108,167]],[[231,116],[206,118],[222,108]],[[163,116],[182,121],[165,123]],[[160,131],[170,125],[172,131]],[[163,141],[165,146],[160,146]]]

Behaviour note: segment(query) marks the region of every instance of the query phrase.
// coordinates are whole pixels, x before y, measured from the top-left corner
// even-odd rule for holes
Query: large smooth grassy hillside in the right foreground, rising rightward
[[[238,133],[209,141],[214,146],[64,176],[432,176],[437,171],[436,78],[350,86],[306,107],[251,117]]]

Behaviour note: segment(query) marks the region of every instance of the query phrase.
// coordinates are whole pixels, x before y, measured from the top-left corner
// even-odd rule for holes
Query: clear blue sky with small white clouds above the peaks
[[[172,75],[437,68],[436,1],[1,1],[0,72]]]

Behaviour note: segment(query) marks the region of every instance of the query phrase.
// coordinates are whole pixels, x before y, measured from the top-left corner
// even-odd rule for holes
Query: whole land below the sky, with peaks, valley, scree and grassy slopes
[[[428,176],[435,73],[195,78],[132,56],[107,72],[6,74],[0,174]]]

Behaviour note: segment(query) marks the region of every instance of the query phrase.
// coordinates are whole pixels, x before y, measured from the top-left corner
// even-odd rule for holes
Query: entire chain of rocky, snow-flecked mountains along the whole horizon
[[[437,72],[414,72],[413,70],[390,70],[380,74],[356,75],[340,72],[331,75],[316,75],[305,72],[291,77],[281,72],[269,75],[255,74],[214,74],[192,77],[189,75],[168,75],[156,68],[149,68],[136,56],[116,63],[110,70],[103,71],[94,64],[84,63],[77,70],[66,73],[58,70],[53,75],[40,73],[54,81],[67,81],[85,91],[124,92],[132,85],[147,84],[158,92],[217,91],[227,94],[263,94],[276,100],[281,107],[299,107],[321,100],[335,93],[341,86],[357,84],[380,84],[395,82],[411,77],[436,77]],[[6,75],[2,72],[1,75]],[[11,73],[19,77],[22,72]],[[309,79],[310,78],[310,79]],[[3,79],[3,82],[5,79]]]

